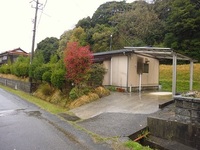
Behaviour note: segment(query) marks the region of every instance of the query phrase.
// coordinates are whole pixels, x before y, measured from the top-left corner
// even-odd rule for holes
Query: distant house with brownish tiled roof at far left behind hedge
[[[19,56],[29,56],[27,52],[22,50],[21,48],[16,48],[13,50],[9,50],[3,53],[0,53],[0,65],[7,64],[8,61],[11,63],[15,62],[17,60],[17,57]]]

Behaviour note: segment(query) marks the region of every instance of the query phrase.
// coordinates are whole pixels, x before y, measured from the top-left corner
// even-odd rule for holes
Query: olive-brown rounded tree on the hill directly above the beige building
[[[154,45],[161,38],[162,23],[144,1],[133,2],[131,10],[118,14],[113,20],[118,22],[119,34],[129,41],[130,46]]]

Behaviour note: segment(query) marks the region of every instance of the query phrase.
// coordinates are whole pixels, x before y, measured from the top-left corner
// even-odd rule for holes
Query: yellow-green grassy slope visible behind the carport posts
[[[193,90],[200,90],[200,64],[194,64]],[[162,90],[172,89],[172,65],[160,65],[160,85]],[[189,91],[190,65],[177,65],[177,92]]]

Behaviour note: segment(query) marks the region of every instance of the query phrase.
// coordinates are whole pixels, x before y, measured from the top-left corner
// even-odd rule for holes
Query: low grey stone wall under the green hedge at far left
[[[31,83],[30,82],[22,82],[19,80],[0,78],[0,84],[11,87],[16,90],[19,89],[21,91],[31,93]]]

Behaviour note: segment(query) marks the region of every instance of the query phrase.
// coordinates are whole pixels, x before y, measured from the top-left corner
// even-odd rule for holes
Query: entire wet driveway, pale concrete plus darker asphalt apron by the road
[[[126,139],[146,127],[147,117],[159,110],[159,104],[170,100],[170,93],[114,92],[70,111],[83,119],[77,122],[81,127],[102,137]]]

